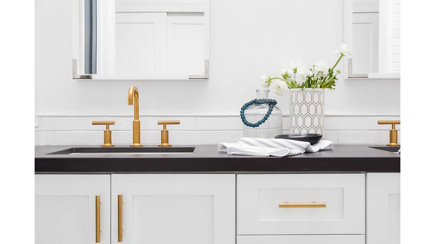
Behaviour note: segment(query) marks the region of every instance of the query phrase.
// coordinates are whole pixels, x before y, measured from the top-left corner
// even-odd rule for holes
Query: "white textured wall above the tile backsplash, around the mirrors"
[[[71,4],[36,0],[37,114],[131,113],[127,90],[140,89],[141,113],[237,113],[263,72],[292,60],[333,62],[343,42],[342,0],[211,0],[210,80],[71,80]],[[341,65],[343,66],[343,65]],[[344,81],[327,93],[326,112],[400,112],[399,82]],[[275,96],[276,97],[276,96]],[[278,98],[288,111],[288,95]]]

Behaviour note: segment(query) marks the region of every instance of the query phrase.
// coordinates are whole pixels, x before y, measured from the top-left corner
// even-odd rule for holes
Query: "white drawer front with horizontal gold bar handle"
[[[237,234],[364,234],[364,192],[364,174],[238,175]]]

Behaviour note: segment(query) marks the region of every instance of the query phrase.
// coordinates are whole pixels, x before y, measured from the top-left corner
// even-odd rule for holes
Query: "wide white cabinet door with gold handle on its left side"
[[[234,244],[235,176],[114,174],[112,216],[113,244]]]

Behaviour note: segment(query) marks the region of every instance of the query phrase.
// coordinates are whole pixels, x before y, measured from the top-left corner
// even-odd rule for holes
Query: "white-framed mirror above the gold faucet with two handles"
[[[73,0],[73,79],[208,79],[209,0]]]

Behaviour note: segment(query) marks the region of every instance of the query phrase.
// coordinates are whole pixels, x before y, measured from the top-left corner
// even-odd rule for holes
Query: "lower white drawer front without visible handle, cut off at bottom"
[[[237,236],[237,244],[364,244],[364,235]]]

